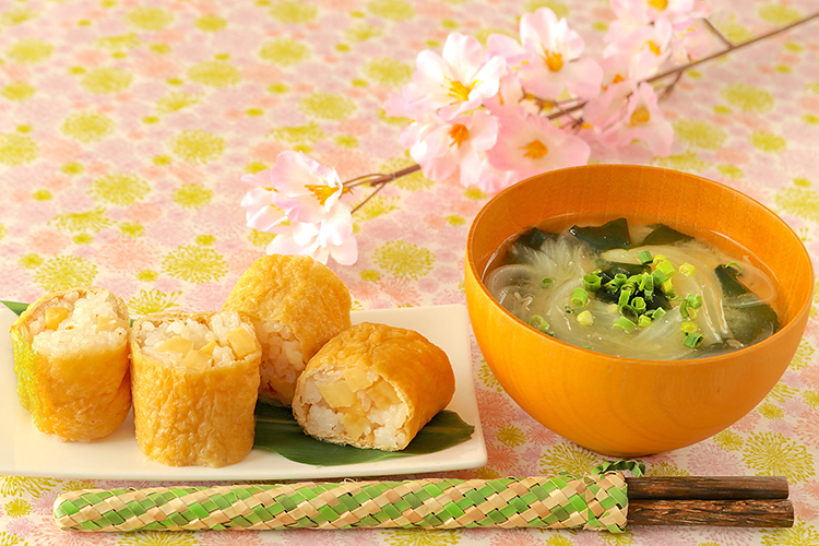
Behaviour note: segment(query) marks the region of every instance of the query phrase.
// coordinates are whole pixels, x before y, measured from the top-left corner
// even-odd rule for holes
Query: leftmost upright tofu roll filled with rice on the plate
[[[111,434],[131,408],[130,320],[124,302],[97,287],[48,294],[11,327],[20,403],[60,440]]]

